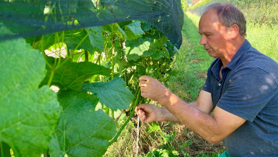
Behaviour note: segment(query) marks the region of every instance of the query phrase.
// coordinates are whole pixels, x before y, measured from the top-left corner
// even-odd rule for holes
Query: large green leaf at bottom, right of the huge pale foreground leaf
[[[50,142],[50,155],[69,157],[102,156],[116,135],[116,123],[102,110],[95,110],[95,94],[60,90],[63,107],[59,124]]]

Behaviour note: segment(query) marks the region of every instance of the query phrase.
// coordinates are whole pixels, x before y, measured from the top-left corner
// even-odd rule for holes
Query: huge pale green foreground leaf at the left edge
[[[56,93],[43,86],[45,61],[23,39],[0,43],[0,141],[15,156],[40,156],[47,151],[61,107]]]

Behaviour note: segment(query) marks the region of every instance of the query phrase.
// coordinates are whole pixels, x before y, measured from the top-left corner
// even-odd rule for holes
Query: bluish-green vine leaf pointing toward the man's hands
[[[96,93],[102,104],[114,109],[126,109],[134,96],[126,87],[126,82],[116,77],[108,82],[95,82],[82,85],[83,91]]]

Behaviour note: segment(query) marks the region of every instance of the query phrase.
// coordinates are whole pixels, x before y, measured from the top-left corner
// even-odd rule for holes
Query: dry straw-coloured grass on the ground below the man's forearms
[[[133,122],[137,118],[133,118]],[[180,123],[158,122],[161,130],[156,132],[146,131],[149,128],[149,124],[140,123],[140,142],[139,142],[139,154],[147,154],[153,148],[176,150],[179,152],[179,156],[183,157],[185,154],[189,154],[191,157],[197,157],[203,154],[209,156],[209,154],[221,154],[224,151],[224,145],[222,142],[211,144],[204,140],[201,136],[193,133],[189,129]],[[109,147],[105,156],[109,157],[134,157],[136,156],[136,132],[137,128],[131,125],[127,126],[122,133],[122,136]],[[175,137],[165,142],[164,136],[169,134]]]

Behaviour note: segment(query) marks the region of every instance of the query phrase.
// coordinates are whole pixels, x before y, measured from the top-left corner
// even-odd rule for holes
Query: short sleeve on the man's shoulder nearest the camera
[[[230,76],[217,106],[253,122],[274,97],[277,84],[270,74],[257,67],[243,67]]]

